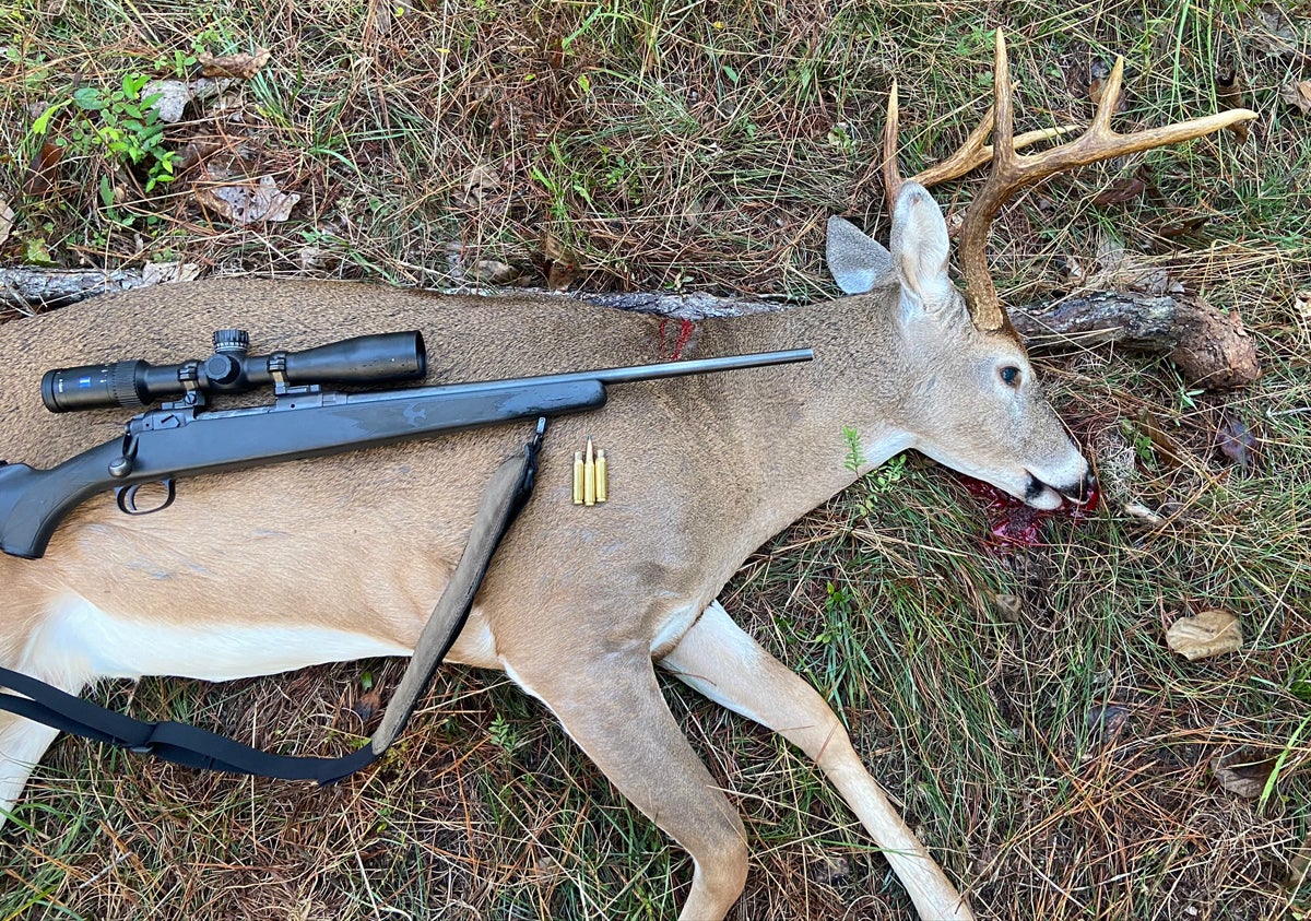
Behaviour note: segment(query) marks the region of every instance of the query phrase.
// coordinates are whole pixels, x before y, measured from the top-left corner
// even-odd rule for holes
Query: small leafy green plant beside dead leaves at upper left
[[[31,134],[46,136],[51,119],[72,108],[72,118],[51,143],[84,156],[101,152],[119,164],[144,169],[146,192],[152,192],[155,186],[173,181],[176,155],[164,146],[164,123],[152,108],[161,94],[142,96],[149,80],[146,73],[125,73],[118,89],[79,87],[71,97],[41,113],[31,123]],[[100,193],[106,207],[111,206],[113,188],[108,177],[102,180]]]

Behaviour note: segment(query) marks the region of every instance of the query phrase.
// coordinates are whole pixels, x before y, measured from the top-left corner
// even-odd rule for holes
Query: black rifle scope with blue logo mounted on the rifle
[[[427,373],[418,331],[355,336],[304,352],[250,356],[244,329],[214,333],[214,354],[178,365],[118,361],[56,367],[41,379],[41,400],[50,412],[134,409],[156,400],[203,394],[241,394],[271,383],[374,384],[416,380]]]

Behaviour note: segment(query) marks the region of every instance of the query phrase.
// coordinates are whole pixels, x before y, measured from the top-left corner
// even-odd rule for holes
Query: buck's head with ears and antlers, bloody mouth
[[[902,180],[897,168],[898,98],[893,81],[884,125],[884,186],[893,214],[890,248],[842,218],[830,218],[827,257],[838,286],[861,294],[895,286],[903,338],[916,356],[907,413],[912,445],[935,460],[1041,509],[1082,501],[1093,485],[1087,462],[1066,436],[1038,386],[987,269],[987,231],[1016,190],[1074,167],[1179,143],[1256,117],[1232,109],[1130,135],[1110,127],[1124,59],[1116,60],[1088,129],[1036,155],[1019,150],[1072,133],[1045,129],[1015,136],[1006,38],[996,31],[996,102],[961,148]],[[992,146],[983,142],[992,134]],[[956,178],[991,160],[987,181],[961,226],[965,290],[948,277],[948,232],[926,185]]]

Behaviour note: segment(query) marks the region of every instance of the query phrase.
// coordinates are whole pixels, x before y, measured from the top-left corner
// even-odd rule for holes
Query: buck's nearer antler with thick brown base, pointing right
[[[965,276],[965,303],[974,324],[981,329],[1003,329],[1009,325],[1002,300],[996,295],[992,277],[987,270],[987,232],[992,218],[1019,189],[1059,173],[1072,167],[1082,167],[1114,156],[1137,154],[1139,151],[1175,144],[1181,140],[1201,138],[1213,131],[1256,118],[1249,109],[1230,109],[1215,115],[1193,118],[1186,122],[1147,129],[1134,134],[1121,135],[1110,127],[1110,115],[1120,96],[1124,79],[1124,58],[1116,60],[1116,67],[1103,88],[1103,98],[1097,105],[1088,129],[1059,147],[1041,154],[1021,155],[1011,134],[1011,85],[1009,66],[1006,55],[1006,38],[996,30],[996,55],[994,62],[994,92],[996,93],[996,125],[992,130],[992,172],[983,188],[970,202],[961,226],[961,273]]]

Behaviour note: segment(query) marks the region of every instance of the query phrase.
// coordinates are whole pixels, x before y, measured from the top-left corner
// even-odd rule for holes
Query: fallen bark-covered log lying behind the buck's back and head
[[[26,314],[38,307],[59,307],[94,294],[146,283],[140,272],[126,269],[0,269],[0,307]],[[524,289],[477,291],[510,297]],[[560,297],[694,323],[788,307],[783,300],[718,298],[712,294],[637,291]],[[1243,320],[1238,314],[1224,314],[1198,298],[1082,293],[1013,307],[1011,321],[1030,349],[1116,345],[1154,354],[1167,353],[1189,383],[1203,387],[1243,387],[1260,375],[1256,342],[1243,328]]]

